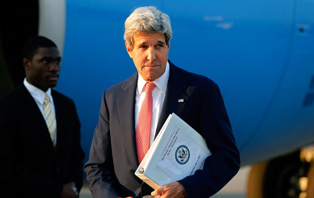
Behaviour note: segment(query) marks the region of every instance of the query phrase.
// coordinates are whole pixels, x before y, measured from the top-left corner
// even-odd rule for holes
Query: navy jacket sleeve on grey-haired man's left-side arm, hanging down
[[[89,181],[89,189],[94,197],[122,196],[119,192],[119,182],[114,173],[109,128],[109,109],[104,92],[99,122],[89,151],[89,160],[84,166]]]

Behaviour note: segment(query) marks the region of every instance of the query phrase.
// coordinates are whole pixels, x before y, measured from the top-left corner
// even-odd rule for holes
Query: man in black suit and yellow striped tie
[[[24,82],[0,99],[1,195],[78,197],[80,122],[74,102],[51,89],[59,77],[59,51],[35,36],[25,42],[23,57]]]

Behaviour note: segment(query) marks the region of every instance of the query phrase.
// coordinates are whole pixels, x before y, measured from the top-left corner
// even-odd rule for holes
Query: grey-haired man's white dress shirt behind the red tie
[[[155,87],[152,91],[153,95],[153,115],[152,115],[152,126],[150,131],[150,143],[149,146],[153,144],[154,137],[156,134],[158,120],[160,118],[160,113],[162,109],[162,105],[165,100],[165,94],[167,89],[167,82],[169,79],[170,69],[169,63],[166,64],[165,73],[162,74],[158,79],[154,80]],[[141,110],[141,106],[145,97],[146,86],[144,86],[147,82],[143,80],[142,76],[138,73],[138,85],[135,96],[135,131],[138,123],[138,115]]]

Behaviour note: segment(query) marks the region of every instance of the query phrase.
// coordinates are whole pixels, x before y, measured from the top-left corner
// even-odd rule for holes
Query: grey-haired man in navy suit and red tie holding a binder
[[[103,94],[85,164],[94,197],[142,197],[152,192],[155,197],[162,193],[163,198],[208,198],[240,168],[239,151],[218,85],[168,60],[171,37],[169,16],[155,7],[137,8],[126,19],[125,45],[138,72]],[[151,93],[147,91],[150,83],[155,84]],[[153,100],[148,114],[151,118],[146,122],[151,127],[150,146],[169,114],[175,113],[203,136],[212,152],[203,170],[156,190],[134,174],[141,162],[139,153],[144,150],[138,128],[142,128],[142,108],[146,109],[145,92]]]

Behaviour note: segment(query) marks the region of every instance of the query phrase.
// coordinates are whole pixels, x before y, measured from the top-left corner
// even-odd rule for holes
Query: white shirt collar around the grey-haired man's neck
[[[169,79],[170,69],[169,69],[169,63],[166,64],[165,73],[162,74],[158,79],[154,80],[153,82],[155,85],[165,94],[167,82]],[[147,82],[142,78],[141,74],[138,73],[138,93],[141,94],[144,88],[144,85]]]

